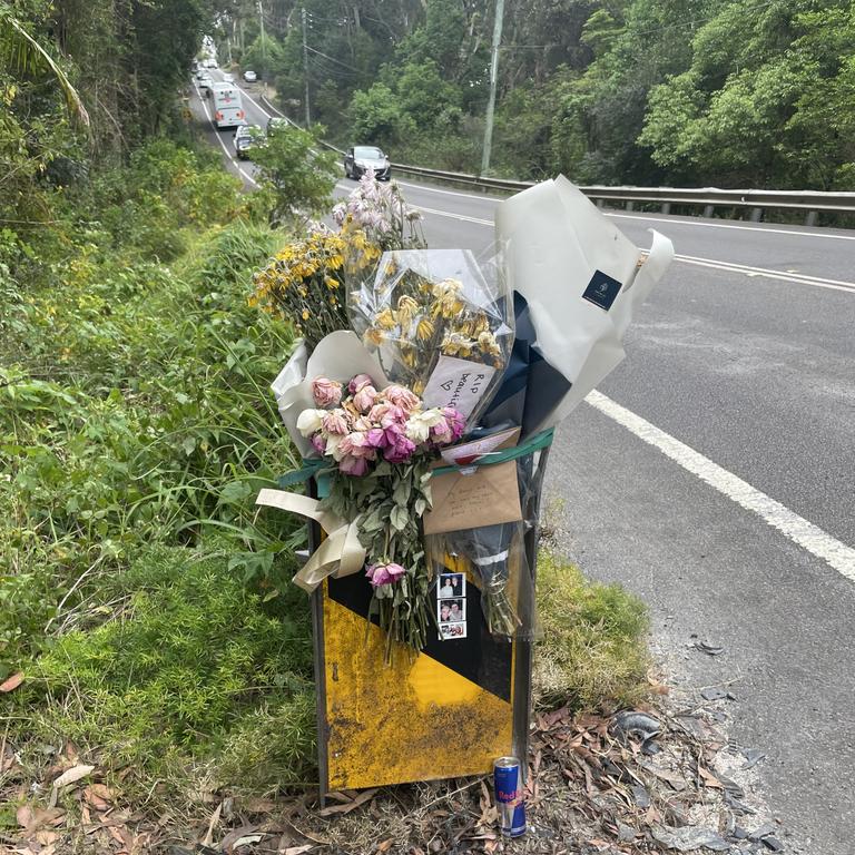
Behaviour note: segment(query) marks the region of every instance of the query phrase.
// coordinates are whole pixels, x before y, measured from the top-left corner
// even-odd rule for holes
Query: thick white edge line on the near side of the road
[[[675,439],[640,415],[607,397],[601,392],[590,392],[586,401],[605,415],[613,419],[643,442],[658,449],[667,458],[699,478],[723,495],[760,517],[780,531],[796,546],[825,561],[841,576],[855,582],[855,549],[808,522],[794,511],[760,492],[746,481],[728,472],[695,449]]]

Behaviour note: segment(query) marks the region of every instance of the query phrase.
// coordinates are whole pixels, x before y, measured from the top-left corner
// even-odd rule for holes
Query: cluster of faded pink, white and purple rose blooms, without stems
[[[299,414],[297,430],[348,475],[364,475],[383,460],[406,463],[414,454],[455,442],[465,429],[456,410],[424,409],[411,390],[396,384],[377,390],[367,374],[346,384],[317,377],[312,395],[316,409]]]

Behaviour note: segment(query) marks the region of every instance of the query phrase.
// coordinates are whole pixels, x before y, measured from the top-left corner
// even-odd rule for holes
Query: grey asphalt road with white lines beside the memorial
[[[489,246],[498,199],[400,184],[432,247]],[[547,513],[588,576],[649,605],[669,681],[734,694],[787,852],[851,852],[855,232],[608,216],[678,259],[558,431]]]

